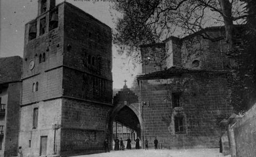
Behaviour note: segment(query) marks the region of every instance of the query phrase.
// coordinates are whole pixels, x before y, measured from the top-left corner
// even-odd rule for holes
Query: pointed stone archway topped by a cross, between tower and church
[[[124,81],[126,83],[126,81]],[[118,91],[114,97],[114,108],[109,117],[109,140],[114,146],[113,139],[123,138],[125,141],[130,138],[134,144],[135,138],[138,136],[141,139],[140,146],[142,145],[142,123],[141,123],[141,106],[138,96],[127,88],[125,84],[123,89]],[[124,143],[126,146],[126,142]],[[135,147],[135,145],[132,145]]]

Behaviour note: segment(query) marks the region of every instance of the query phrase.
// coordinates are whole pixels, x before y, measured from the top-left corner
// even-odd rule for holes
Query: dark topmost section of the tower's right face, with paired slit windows
[[[111,29],[69,3],[65,3],[64,27],[63,64],[112,80]]]

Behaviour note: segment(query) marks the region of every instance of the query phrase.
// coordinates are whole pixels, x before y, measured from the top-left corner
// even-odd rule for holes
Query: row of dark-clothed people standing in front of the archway
[[[123,138],[122,137],[120,138],[120,140],[118,138],[116,138],[116,139],[114,139],[114,141],[115,141],[115,147],[114,147],[115,151],[124,150],[124,142],[123,142]],[[132,149],[132,147],[131,147],[131,142],[132,142],[131,139],[128,138],[125,141],[127,141],[126,149],[127,150]],[[120,142],[120,145],[119,145],[119,142]],[[158,141],[157,141],[156,137],[155,137],[155,140],[154,140],[154,145],[155,145],[155,150],[157,150]],[[107,138],[105,139],[104,147],[105,147],[105,152],[107,152],[107,151],[109,152]],[[137,137],[135,139],[135,149],[140,149],[140,138],[139,137]],[[145,139],[145,150],[148,150],[148,139],[147,139],[147,137]]]

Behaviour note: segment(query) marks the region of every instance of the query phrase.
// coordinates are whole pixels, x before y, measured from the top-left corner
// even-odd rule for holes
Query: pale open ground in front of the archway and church
[[[91,155],[81,155],[79,157],[221,157],[219,149],[193,149],[193,150],[125,150],[110,151],[110,153],[99,153]],[[78,157],[78,156],[77,156]],[[225,156],[227,157],[227,156]]]

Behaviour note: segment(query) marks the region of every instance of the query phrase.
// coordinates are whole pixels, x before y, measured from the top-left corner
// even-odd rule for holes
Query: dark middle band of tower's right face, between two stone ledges
[[[63,68],[63,95],[111,104],[112,81]]]

